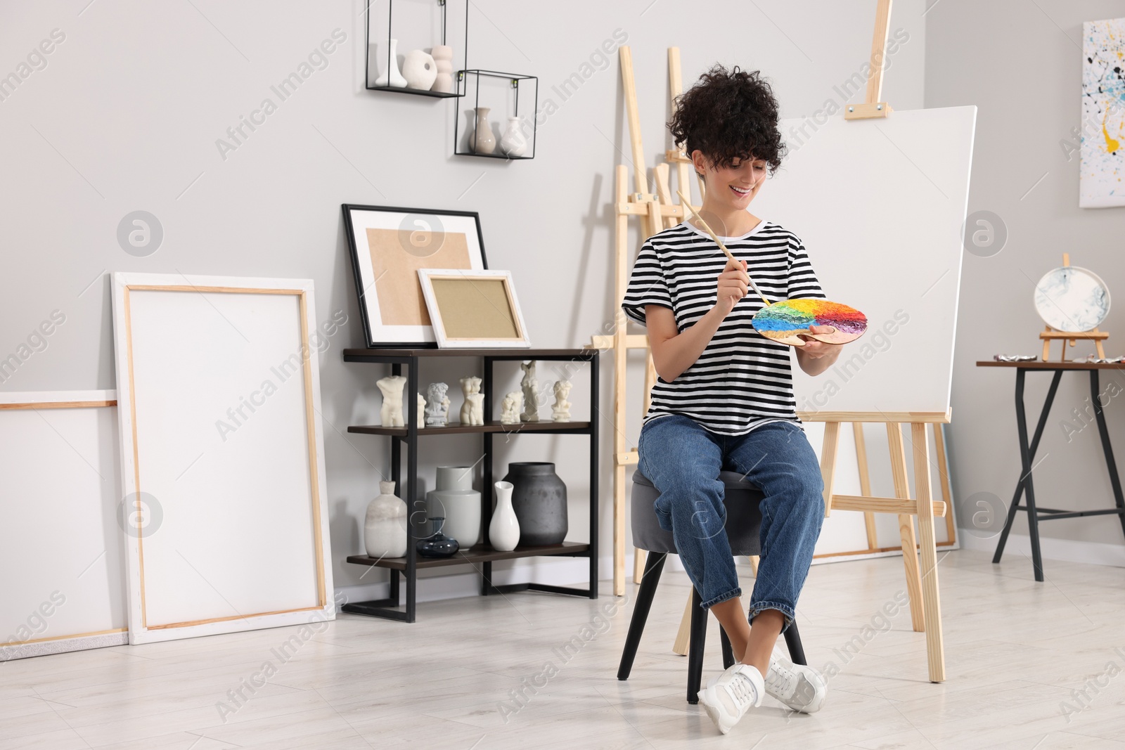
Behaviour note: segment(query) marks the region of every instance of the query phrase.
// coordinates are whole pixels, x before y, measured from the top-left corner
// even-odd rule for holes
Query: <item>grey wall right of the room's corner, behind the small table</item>
[[[999,254],[966,253],[962,271],[951,425],[957,497],[991,493],[1005,505],[1011,501],[1020,473],[1015,373],[976,368],[975,362],[997,353],[1041,353],[1043,322],[1032,297],[1038,279],[1062,264],[1062,253],[1069,252],[1074,265],[1094,270],[1118,295],[1101,329],[1110,332],[1107,355],[1125,351],[1125,309],[1119,302],[1125,289],[1125,208],[1080,209],[1079,157],[1069,160],[1064,147],[1080,125],[1082,21],[1122,15],[1122,3],[1112,0],[943,0],[926,15],[926,106],[980,108],[969,213],[993,211],[1008,232]],[[1058,360],[1059,352],[1055,343],[1051,358]],[[1092,352],[1092,344],[1080,343],[1068,358]],[[1029,430],[1050,381],[1047,373],[1027,377]],[[1104,372],[1101,388],[1112,381],[1117,388],[1110,394],[1125,389],[1120,372]],[[1114,504],[1097,427],[1091,424],[1070,440],[1071,431],[1064,430],[1068,421],[1073,428],[1082,426],[1072,409],[1083,409],[1089,396],[1086,373],[1063,376],[1036,455],[1042,461],[1034,475],[1036,499],[1043,506]],[[1125,461],[1123,403],[1118,396],[1106,406],[1119,462]],[[1027,533],[1025,514],[1016,519],[1014,533]],[[1040,534],[1094,542],[1089,559],[1119,559],[1094,552],[1099,544],[1122,545],[1122,526],[1113,516],[1053,521],[1041,524]],[[984,545],[994,549],[996,540]],[[1017,551],[1011,554],[1019,559]]]

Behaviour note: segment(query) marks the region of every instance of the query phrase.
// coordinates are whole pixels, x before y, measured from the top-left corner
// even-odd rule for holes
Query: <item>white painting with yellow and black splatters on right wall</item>
[[[1082,25],[1082,208],[1125,206],[1125,18]]]

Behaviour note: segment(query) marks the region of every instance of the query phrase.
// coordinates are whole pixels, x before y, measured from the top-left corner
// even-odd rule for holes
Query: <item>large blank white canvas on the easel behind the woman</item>
[[[886,422],[948,419],[975,116],[975,107],[950,107],[858,121],[835,117],[816,127],[782,121],[790,153],[754,210],[795,233],[825,295],[863,310],[868,323],[827,372],[812,378],[794,368],[802,418],[864,413],[886,415]],[[808,424],[818,453],[822,430]],[[867,431],[867,453],[885,453],[881,432]],[[848,460],[850,431],[842,443],[845,471],[837,473],[836,491],[860,495]],[[936,460],[934,469],[945,471]],[[876,546],[898,546],[894,516],[876,514],[875,523]],[[817,553],[863,550],[867,542],[861,514],[834,513]]]

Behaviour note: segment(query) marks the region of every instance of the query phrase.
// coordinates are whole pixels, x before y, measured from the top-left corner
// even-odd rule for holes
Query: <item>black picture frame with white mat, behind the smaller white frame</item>
[[[487,269],[480,216],[353,204],[341,208],[367,346],[436,347],[418,269]]]

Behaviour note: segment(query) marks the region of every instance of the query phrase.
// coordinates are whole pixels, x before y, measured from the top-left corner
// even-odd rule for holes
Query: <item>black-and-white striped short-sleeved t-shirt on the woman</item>
[[[792,232],[763,219],[740,237],[723,237],[771,302],[824,299],[806,254]],[[718,277],[727,264],[722,250],[702,229],[682,223],[648,238],[633,264],[621,307],[645,323],[645,306],[669,308],[683,332],[714,307]],[[657,378],[645,422],[682,414],[708,430],[745,435],[768,422],[796,418],[790,349],[765,338],[750,325],[762,299],[749,289],[719,325],[703,353],[673,382]]]

